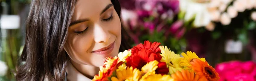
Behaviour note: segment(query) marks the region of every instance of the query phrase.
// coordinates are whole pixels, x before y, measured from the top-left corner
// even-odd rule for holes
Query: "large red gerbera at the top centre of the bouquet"
[[[147,62],[151,62],[154,60],[157,60],[160,62],[161,59],[162,59],[162,57],[160,57],[158,54],[154,53],[152,50],[141,49],[140,51],[134,52],[133,54],[131,54],[130,57],[127,57],[126,65],[128,67],[132,66],[134,68],[141,70],[141,68],[145,64],[147,64]]]

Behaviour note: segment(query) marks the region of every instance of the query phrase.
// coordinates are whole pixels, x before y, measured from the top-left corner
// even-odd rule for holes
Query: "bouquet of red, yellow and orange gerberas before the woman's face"
[[[219,74],[194,52],[175,54],[167,46],[145,41],[108,57],[93,81],[218,81]]]

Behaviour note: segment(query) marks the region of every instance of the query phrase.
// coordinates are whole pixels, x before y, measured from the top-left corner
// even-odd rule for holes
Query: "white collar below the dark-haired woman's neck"
[[[67,64],[67,80],[68,81],[92,81],[90,78],[87,78],[81,74],[76,68],[69,62]]]

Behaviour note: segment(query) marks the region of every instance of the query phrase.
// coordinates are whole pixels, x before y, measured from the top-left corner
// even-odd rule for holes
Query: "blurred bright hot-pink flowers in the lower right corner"
[[[256,64],[252,61],[230,61],[218,64],[219,81],[256,81]]]

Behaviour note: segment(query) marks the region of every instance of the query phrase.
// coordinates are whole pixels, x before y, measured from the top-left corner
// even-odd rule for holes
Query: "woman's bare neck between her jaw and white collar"
[[[70,64],[81,74],[85,77],[93,79],[95,75],[99,72],[99,67],[95,67],[92,65],[82,65],[74,62],[72,59],[70,60]]]

